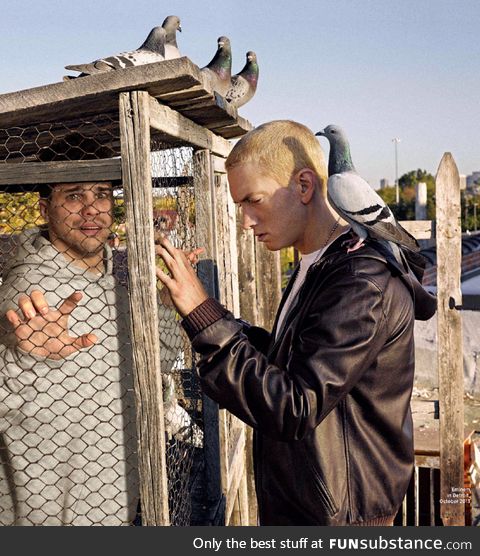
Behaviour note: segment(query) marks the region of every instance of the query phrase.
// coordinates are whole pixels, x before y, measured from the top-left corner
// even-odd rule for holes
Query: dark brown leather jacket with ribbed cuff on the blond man
[[[261,525],[381,525],[402,502],[414,461],[413,299],[423,290],[387,259],[335,242],[276,341],[212,299],[185,319],[205,392],[256,431]],[[426,301],[424,317],[435,311]]]

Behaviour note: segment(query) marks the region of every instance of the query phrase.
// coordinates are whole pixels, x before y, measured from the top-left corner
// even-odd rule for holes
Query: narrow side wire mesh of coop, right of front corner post
[[[172,148],[158,137],[151,143],[155,234],[189,252],[196,247],[193,150]],[[169,319],[159,314],[160,330],[169,326]],[[178,352],[175,365],[161,362],[170,522],[189,525],[194,483],[203,464],[201,394],[188,338],[178,334],[172,344]]]

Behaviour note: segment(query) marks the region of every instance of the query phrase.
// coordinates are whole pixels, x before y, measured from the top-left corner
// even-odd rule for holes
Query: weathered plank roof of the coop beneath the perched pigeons
[[[237,136],[251,129],[235,108],[210,88],[198,66],[186,57],[0,95],[0,128],[108,112],[116,109],[118,93],[137,89],[148,91],[166,103],[175,102],[175,92],[181,100],[190,95],[193,111],[189,117],[198,118],[202,124],[206,123],[205,118],[209,124],[225,120],[229,137],[232,137],[231,129],[236,129]],[[204,103],[200,112],[195,109],[199,97]],[[187,103],[178,110],[183,112],[189,108]],[[221,129],[217,133],[222,135]]]

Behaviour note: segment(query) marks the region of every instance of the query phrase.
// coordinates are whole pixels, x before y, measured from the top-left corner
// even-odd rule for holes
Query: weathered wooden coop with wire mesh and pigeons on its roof
[[[138,447],[133,450],[138,461],[134,467],[138,468],[143,525],[256,522],[247,449],[251,431],[201,394],[195,355],[183,333],[174,341],[173,336],[162,340],[166,330],[178,329],[178,316],[173,316],[174,322],[162,320],[172,317],[168,310],[158,309],[154,270],[154,241],[159,231],[177,247],[205,247],[198,273],[207,291],[235,315],[264,326],[272,324],[281,291],[279,257],[255,245],[251,234],[237,227],[224,167],[231,149],[229,139],[250,129],[235,109],[209,89],[198,67],[187,58],[0,96],[0,253],[4,265],[22,227],[39,223],[38,215],[29,211],[42,184],[114,183],[120,246],[113,251],[113,264],[119,269],[120,282],[128,287],[125,310],[132,365],[126,371],[131,376],[127,390],[134,393]],[[23,224],[12,224],[9,210]],[[86,320],[84,325],[90,319]],[[164,344],[170,348],[173,344],[175,351],[169,368],[165,368]],[[103,356],[107,372],[111,357]],[[82,372],[88,371],[82,367]],[[100,381],[98,377],[87,380]],[[58,395],[68,398],[82,389],[87,389],[83,383],[77,384],[75,392]],[[166,390],[174,404],[165,399]],[[52,391],[46,387],[45,396],[48,392],[51,396],[45,403],[58,402]],[[96,399],[98,392],[85,396]],[[37,403],[41,405],[42,400],[37,398]],[[72,422],[79,427],[87,420],[95,434],[100,425],[87,414],[75,416],[77,409],[72,409]],[[175,418],[182,426],[172,425]],[[38,432],[42,426],[35,433],[37,440],[32,437],[30,445],[22,448],[25,457],[32,449],[38,458],[45,456]],[[66,426],[73,425],[68,422]],[[129,442],[134,440],[135,434]],[[91,450],[83,444],[82,448],[84,455]],[[49,450],[50,458],[55,454]],[[112,446],[113,454],[115,450]],[[81,453],[77,456],[78,473],[91,468],[88,481],[95,481],[95,474],[101,476],[96,461],[86,464]],[[108,465],[106,454],[97,459]],[[39,496],[43,487],[40,477]],[[95,490],[92,487],[86,497],[85,503],[92,507],[87,515],[92,516],[92,523],[104,523],[95,517],[95,507],[103,503]],[[22,519],[28,523],[28,515]]]

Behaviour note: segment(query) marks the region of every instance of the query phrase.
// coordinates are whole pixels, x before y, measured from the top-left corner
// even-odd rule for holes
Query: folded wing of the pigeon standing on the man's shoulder
[[[358,174],[333,174],[328,178],[328,194],[338,212],[362,226],[370,236],[419,250],[415,238],[395,220],[385,201]]]

